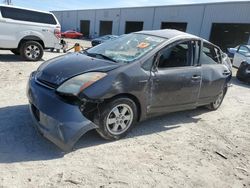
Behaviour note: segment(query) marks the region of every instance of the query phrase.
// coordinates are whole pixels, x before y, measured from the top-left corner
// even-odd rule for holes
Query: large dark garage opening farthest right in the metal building
[[[226,51],[239,44],[247,44],[250,36],[250,24],[213,23],[210,41]]]

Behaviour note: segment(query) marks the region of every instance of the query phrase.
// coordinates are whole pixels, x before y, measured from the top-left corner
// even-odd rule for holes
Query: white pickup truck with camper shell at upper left
[[[0,5],[0,49],[30,61],[44,49],[60,49],[61,26],[50,12]]]

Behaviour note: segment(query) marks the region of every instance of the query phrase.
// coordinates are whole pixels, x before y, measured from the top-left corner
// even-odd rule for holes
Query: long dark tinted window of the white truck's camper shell
[[[0,7],[0,10],[3,18],[10,18],[13,20],[35,22],[35,23],[45,23],[53,25],[57,24],[52,14],[46,14],[42,12],[11,8],[11,7]]]

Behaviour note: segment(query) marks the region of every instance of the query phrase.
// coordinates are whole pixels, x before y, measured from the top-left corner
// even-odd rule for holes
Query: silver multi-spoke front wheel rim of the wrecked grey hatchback
[[[106,127],[111,134],[122,134],[130,127],[133,116],[130,106],[126,104],[117,105],[108,114]]]

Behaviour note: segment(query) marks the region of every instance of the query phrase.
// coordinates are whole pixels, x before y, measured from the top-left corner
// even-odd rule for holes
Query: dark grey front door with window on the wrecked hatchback
[[[152,72],[150,113],[193,108],[201,84],[201,68],[195,58],[195,41],[177,42],[158,54]]]

